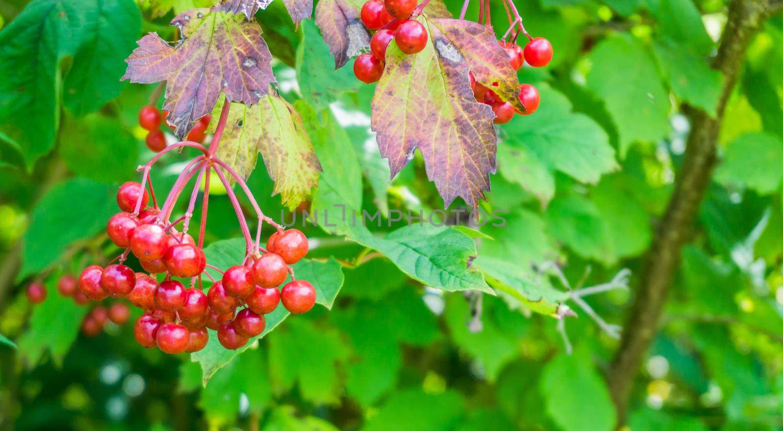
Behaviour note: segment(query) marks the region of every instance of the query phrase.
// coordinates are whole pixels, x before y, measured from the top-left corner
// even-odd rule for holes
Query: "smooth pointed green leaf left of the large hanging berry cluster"
[[[68,246],[92,238],[119,211],[117,190],[96,181],[72,178],[49,189],[34,207],[30,227],[23,236],[22,269],[17,279],[54,263]],[[89,208],[75,211],[74,203]]]

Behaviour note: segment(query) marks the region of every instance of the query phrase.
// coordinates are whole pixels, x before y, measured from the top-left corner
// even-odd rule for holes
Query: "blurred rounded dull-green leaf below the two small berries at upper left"
[[[70,171],[101,182],[132,180],[139,142],[116,119],[91,114],[67,118],[60,131],[60,156]]]

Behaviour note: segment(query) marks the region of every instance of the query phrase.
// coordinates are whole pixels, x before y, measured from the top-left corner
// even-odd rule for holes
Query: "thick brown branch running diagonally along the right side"
[[[666,294],[679,266],[680,251],[691,236],[696,211],[716,164],[716,139],[727,99],[737,81],[752,34],[769,12],[770,0],[734,0],[731,3],[723,40],[713,61],[713,68],[724,78],[717,115],[713,118],[702,110],[691,112],[691,135],[683,167],[677,174],[673,195],[648,250],[636,302],[608,370],[607,380],[617,408],[618,427],[625,424],[633,380],[657,332]]]

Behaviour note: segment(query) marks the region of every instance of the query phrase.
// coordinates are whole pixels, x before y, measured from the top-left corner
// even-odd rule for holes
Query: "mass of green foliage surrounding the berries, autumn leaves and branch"
[[[555,56],[519,72],[541,106],[499,129],[482,210],[507,224],[480,233],[403,227],[409,210],[442,208],[423,161],[388,183],[369,128],[373,85],[359,85],[350,64],[332,70],[312,21],[297,29],[272,2],[256,18],[323,165],[310,209],[341,203],[403,217],[384,217],[382,228],[303,228],[323,260],[314,277],[339,289],[320,301],[331,310],[282,321],[230,361],[193,362],[139,347],[132,325],[79,335],[87,309],[55,288],[58,275],[117,254],[96,235],[116,210],[117,185],[152,156],[136,115],[153,91],[117,78],[141,34],[174,38],[174,12],[152,19],[152,5],[129,0],[25,3],[0,2],[0,429],[614,429],[604,373],[619,343],[546,268],[561,266],[572,286],[629,268],[630,291],[586,299],[622,324],[680,168],[688,110],[716,111],[722,76],[709,59],[723,1],[517,2]],[[446,3],[458,13],[461,2]],[[502,33],[502,3],[493,10]],[[45,25],[52,13],[69,14],[70,27]],[[722,161],[638,370],[633,431],[783,429],[781,47],[783,19],[772,17],[727,102]],[[31,92],[11,92],[19,80]],[[164,158],[157,189],[185,157]],[[249,183],[267,214],[294,217],[269,197],[262,163]],[[210,202],[206,242],[238,238],[226,196]],[[33,310],[23,292],[40,274],[49,298]],[[493,294],[454,292],[465,289]],[[579,315],[565,318],[570,355],[552,317],[563,303]]]

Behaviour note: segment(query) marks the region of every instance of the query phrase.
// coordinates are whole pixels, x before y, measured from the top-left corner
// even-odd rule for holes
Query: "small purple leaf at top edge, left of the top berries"
[[[335,69],[370,48],[370,34],[359,16],[361,9],[359,0],[321,0],[316,5],[316,26],[334,56]]]

